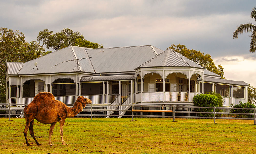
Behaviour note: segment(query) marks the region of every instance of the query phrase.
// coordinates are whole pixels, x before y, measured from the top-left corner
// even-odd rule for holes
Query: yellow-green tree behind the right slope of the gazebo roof
[[[223,77],[224,76],[223,66],[218,65],[218,67],[216,67],[210,54],[205,54],[204,52],[202,53],[200,51],[196,51],[193,49],[192,50],[187,49],[185,45],[181,45],[181,44],[178,44],[178,45],[172,44],[169,48],[177,51],[178,53],[182,54],[188,59],[206,68],[207,70],[220,75],[222,79],[226,79]]]

